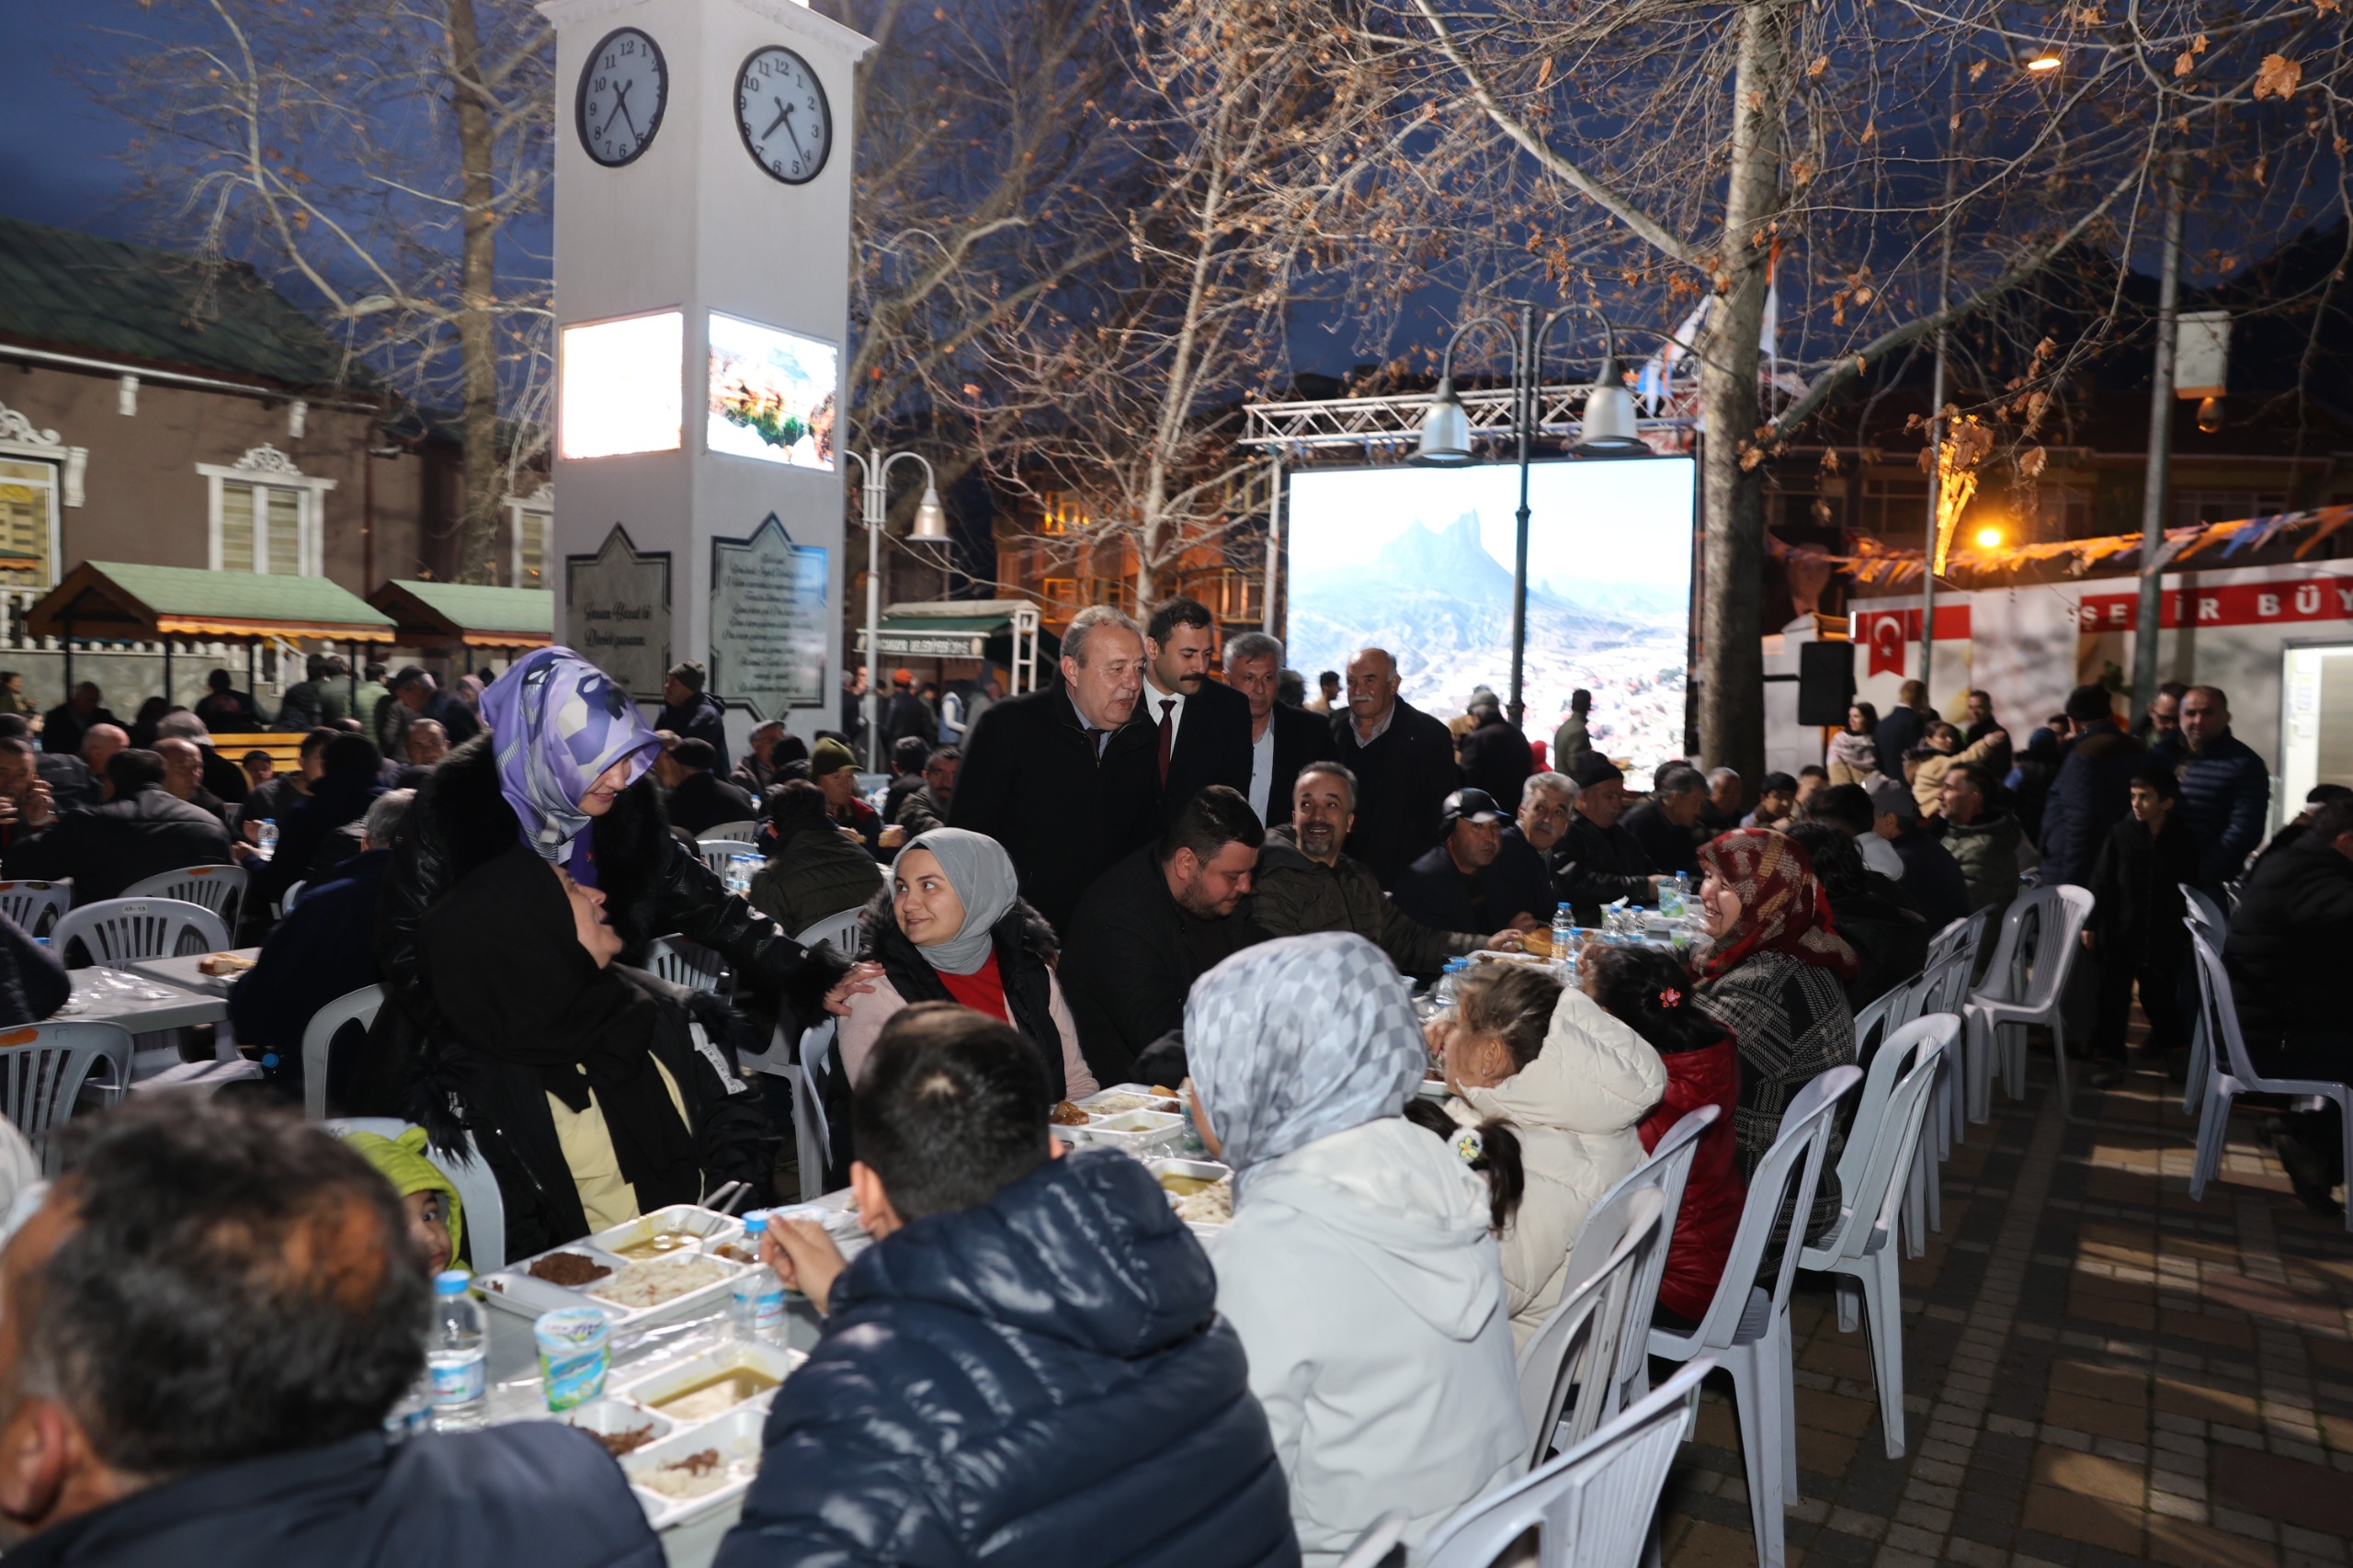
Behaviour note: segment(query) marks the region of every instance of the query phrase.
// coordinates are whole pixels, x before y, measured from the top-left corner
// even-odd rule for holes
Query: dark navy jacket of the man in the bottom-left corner
[[[362,1434],[202,1469],[9,1547],[9,1568],[661,1568],[588,1436],[555,1422]]]

